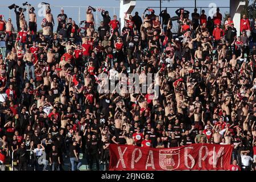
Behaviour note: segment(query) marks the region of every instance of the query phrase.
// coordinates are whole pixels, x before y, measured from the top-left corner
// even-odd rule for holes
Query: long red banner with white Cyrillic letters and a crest
[[[231,145],[190,144],[175,148],[144,148],[110,144],[109,170],[227,170]]]

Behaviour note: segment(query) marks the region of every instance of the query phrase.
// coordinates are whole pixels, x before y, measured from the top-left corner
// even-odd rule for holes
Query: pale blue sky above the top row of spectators
[[[85,19],[86,7],[88,7],[89,5],[92,7],[95,7],[96,9],[99,9],[99,10],[100,9],[108,10],[111,17],[113,17],[114,14],[119,16],[119,1],[116,1],[116,0],[105,0],[105,1],[104,0],[82,0],[82,1],[81,0],[72,0],[72,1],[68,1],[68,0],[54,0],[54,1],[33,0],[33,1],[28,1],[28,3],[30,3],[32,6],[35,7],[35,13],[38,16],[38,24],[44,18],[42,15],[42,6],[40,6],[40,3],[42,1],[51,4],[52,14],[55,17],[55,22],[57,22],[56,17],[60,13],[61,7],[63,7],[63,9],[64,9],[64,13],[67,14],[68,17],[72,17],[72,19],[75,20],[77,24],[79,21]],[[10,6],[13,3],[21,6],[22,3],[24,3],[24,2],[25,1],[20,1],[20,0],[2,1],[1,2],[0,14],[4,15],[6,19],[11,18],[13,20],[14,27],[16,27],[15,13],[14,13],[14,10],[9,10],[8,6]],[[68,7],[65,7],[65,6],[68,6]],[[167,12],[171,16],[176,15],[175,10],[179,9],[178,7],[184,7],[188,11],[193,12],[193,6],[194,6],[194,1],[188,1],[188,0],[187,1],[182,1],[182,0],[172,1],[171,0],[170,2],[168,2],[168,1],[162,2],[163,9],[165,7],[168,7]],[[228,13],[228,11],[229,11],[229,8],[228,8],[229,1],[226,1],[226,0],[225,1],[223,1],[223,0],[221,0],[221,1],[220,0],[219,1],[197,0],[197,9],[199,9],[199,11],[200,11],[200,7],[203,7],[202,9],[205,10],[207,15],[208,15],[208,13],[212,14],[212,10],[213,10],[213,9],[211,9],[212,6],[219,6],[221,13],[223,15],[224,15],[224,13]],[[159,14],[159,1],[137,1],[136,7],[133,10],[133,14],[135,13],[135,11],[138,11],[139,14],[141,15],[147,7],[150,7],[150,8],[155,7],[152,9],[155,10],[155,14]],[[102,16],[100,13],[101,13],[100,11],[94,12],[94,19],[96,20],[97,24],[100,24],[100,21],[102,20]],[[27,14],[25,12],[25,16],[26,15]],[[55,30],[56,30],[56,26],[55,26]]]

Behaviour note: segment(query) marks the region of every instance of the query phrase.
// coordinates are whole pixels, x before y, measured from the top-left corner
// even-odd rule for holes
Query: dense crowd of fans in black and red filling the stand
[[[232,144],[230,170],[256,169],[256,19],[242,15],[237,32],[220,9],[213,17],[197,9],[176,10],[174,17],[146,9],[142,16],[126,15],[121,28],[116,15],[102,10],[96,27],[91,6],[79,23],[63,9],[53,17],[46,6],[38,23],[34,7],[27,22],[24,9],[11,5],[17,29],[0,15],[2,170],[15,162],[20,171],[65,165],[75,171],[80,154],[89,169],[96,163],[99,170],[108,166],[110,143]],[[159,97],[152,99],[152,85],[147,93],[125,87],[99,93],[103,73],[117,80],[137,73],[139,84],[158,73]]]

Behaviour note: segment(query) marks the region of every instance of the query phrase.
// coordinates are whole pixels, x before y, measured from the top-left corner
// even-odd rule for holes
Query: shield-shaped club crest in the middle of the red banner
[[[167,171],[172,171],[180,166],[180,150],[159,150],[159,166]]]

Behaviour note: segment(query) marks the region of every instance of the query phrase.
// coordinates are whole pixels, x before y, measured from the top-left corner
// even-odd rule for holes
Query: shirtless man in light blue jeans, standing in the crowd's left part
[[[34,68],[34,55],[31,53],[30,49],[27,49],[23,56],[23,61],[26,63],[27,78],[30,80],[30,71],[32,73],[32,78],[35,80],[35,68]]]

